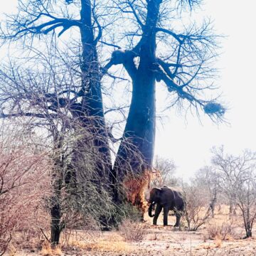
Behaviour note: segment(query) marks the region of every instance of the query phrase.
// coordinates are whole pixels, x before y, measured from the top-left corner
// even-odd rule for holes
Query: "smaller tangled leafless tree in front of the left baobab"
[[[61,231],[75,223],[75,218],[70,223],[70,216],[92,217],[107,225],[114,210],[110,184],[98,170],[98,164],[104,165],[105,158],[95,147],[96,134],[88,129],[95,125],[97,117],[88,119],[84,127],[80,117],[73,115],[72,97],[62,95],[73,93],[76,78],[66,63],[61,65],[55,60],[56,56],[51,54],[54,49],[49,48],[48,54],[31,50],[38,53],[37,67],[23,63],[18,68],[10,64],[1,70],[1,117],[15,118],[21,123],[29,120],[31,132],[43,134],[45,138],[42,144],[48,146],[53,162],[53,191],[47,206],[51,216],[50,240],[54,246]]]

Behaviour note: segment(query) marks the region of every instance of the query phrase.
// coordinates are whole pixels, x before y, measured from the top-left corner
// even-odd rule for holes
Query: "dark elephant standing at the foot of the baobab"
[[[176,223],[174,227],[180,225],[181,216],[186,208],[185,200],[180,192],[166,186],[162,188],[152,188],[150,191],[149,203],[149,217],[154,217],[153,225],[156,225],[157,218],[159,217],[162,208],[164,208],[164,225],[168,225],[169,210],[174,210],[174,214],[176,215]],[[155,204],[155,214],[152,215],[152,209]]]

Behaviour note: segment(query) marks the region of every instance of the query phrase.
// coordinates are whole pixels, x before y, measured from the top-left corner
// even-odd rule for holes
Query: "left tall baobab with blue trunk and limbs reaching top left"
[[[97,162],[97,171],[100,176],[107,177],[111,171],[111,158],[102,104],[102,73],[97,55],[97,43],[102,36],[100,14],[96,13],[98,8],[96,1],[90,0],[63,0],[58,4],[53,0],[19,0],[18,14],[8,16],[1,38],[12,41],[24,38],[26,41],[50,33],[57,33],[60,37],[70,28],[78,28],[81,43],[80,85],[73,87],[74,90],[67,85],[58,95],[46,91],[43,97],[52,111],[56,104],[60,107],[68,104],[73,116],[95,134],[92,146],[102,155],[102,161]],[[63,55],[60,58],[67,57]],[[74,154],[74,162],[77,157],[78,152]]]

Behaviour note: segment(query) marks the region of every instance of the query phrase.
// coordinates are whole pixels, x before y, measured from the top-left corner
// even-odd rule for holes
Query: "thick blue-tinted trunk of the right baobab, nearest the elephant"
[[[143,176],[151,169],[155,139],[156,23],[161,1],[147,1],[146,24],[139,50],[139,66],[132,75],[132,102],[122,142],[114,163],[114,182],[120,185],[127,174]],[[127,70],[129,72],[129,70]],[[134,191],[140,193],[140,191]],[[120,201],[119,191],[114,191]]]

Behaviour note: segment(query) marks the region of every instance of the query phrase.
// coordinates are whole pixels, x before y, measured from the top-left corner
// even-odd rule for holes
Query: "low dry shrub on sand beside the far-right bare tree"
[[[208,225],[208,238],[230,240],[233,238],[234,233],[233,223],[222,223],[221,225],[211,224]]]

